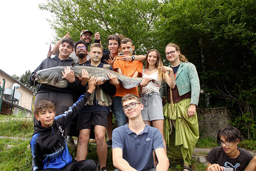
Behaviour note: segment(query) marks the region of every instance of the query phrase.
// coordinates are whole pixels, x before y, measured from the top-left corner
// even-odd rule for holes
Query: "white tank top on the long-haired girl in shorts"
[[[142,72],[142,78],[151,78],[151,79],[154,79],[156,80],[159,85],[161,85],[161,82],[162,81],[159,81],[158,80],[158,70],[155,72],[155,73],[152,73],[151,75],[146,75],[144,73],[144,69],[143,69],[143,72]],[[160,87],[156,87],[156,85],[154,85],[154,83],[152,83],[151,81],[148,83],[148,85],[146,85],[145,87],[142,88],[142,91],[141,91],[141,94],[143,93],[146,93],[146,94],[149,94],[151,93],[152,91],[155,91],[157,93],[160,94]]]

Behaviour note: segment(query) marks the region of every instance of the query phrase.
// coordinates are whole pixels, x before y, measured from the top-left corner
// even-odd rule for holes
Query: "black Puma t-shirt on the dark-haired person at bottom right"
[[[240,155],[237,158],[230,158],[222,147],[212,148],[206,159],[211,164],[219,164],[220,166],[233,168],[234,171],[243,171],[253,156],[242,148],[238,148]]]

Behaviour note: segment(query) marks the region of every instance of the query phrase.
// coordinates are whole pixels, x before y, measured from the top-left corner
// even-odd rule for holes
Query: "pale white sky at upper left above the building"
[[[4,0],[0,3],[0,69],[9,75],[35,70],[46,58],[54,30],[51,13],[38,4],[46,0]],[[51,45],[52,47],[54,44]]]

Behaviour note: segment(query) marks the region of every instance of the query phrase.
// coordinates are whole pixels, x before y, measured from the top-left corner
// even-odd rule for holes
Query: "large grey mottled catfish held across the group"
[[[38,83],[48,84],[59,88],[65,88],[68,85],[68,81],[63,77],[61,71],[64,72],[64,66],[57,66],[53,68],[47,68],[43,70],[38,70],[36,72],[36,81]],[[126,89],[138,86],[143,78],[138,77],[128,77],[123,74],[117,73],[113,70],[108,70],[104,68],[91,67],[91,66],[71,66],[71,70],[74,71],[75,75],[82,75],[82,69],[86,69],[90,77],[94,75],[95,77],[101,77],[102,80],[109,80],[108,73],[112,73],[117,76],[120,83]],[[77,79],[77,77],[75,77]],[[160,86],[156,80],[151,80],[156,86]]]

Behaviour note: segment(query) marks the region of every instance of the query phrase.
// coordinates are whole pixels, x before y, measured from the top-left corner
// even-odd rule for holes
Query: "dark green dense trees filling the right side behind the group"
[[[210,93],[210,106],[230,106],[233,121],[249,113],[251,123],[234,123],[248,138],[255,137],[248,126],[255,123],[256,110],[255,0],[171,0],[159,10],[159,40],[165,38],[159,45],[179,44],[197,66],[201,88]]]

